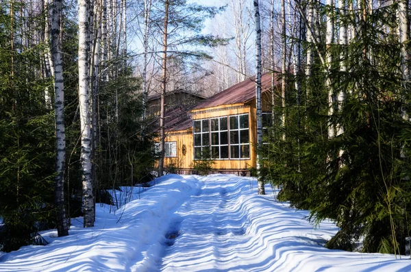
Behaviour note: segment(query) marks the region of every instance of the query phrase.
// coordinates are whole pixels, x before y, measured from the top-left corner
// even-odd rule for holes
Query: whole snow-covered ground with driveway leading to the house
[[[114,214],[97,206],[95,227],[73,219],[70,236],[0,253],[0,271],[411,271],[411,260],[323,247],[336,233],[308,212],[257,195],[234,175],[166,175]],[[119,192],[116,192],[119,194]],[[124,193],[124,192],[123,192]]]

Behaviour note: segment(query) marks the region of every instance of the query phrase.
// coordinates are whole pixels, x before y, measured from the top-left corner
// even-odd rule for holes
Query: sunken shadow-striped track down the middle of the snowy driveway
[[[166,249],[161,271],[219,270],[236,255],[227,250],[233,240],[247,243],[248,215],[239,203],[243,186],[238,177],[199,180],[204,182],[201,194],[175,212],[182,219],[180,234]]]

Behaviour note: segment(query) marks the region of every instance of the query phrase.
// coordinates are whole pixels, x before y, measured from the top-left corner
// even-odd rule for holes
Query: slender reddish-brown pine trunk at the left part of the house
[[[167,27],[169,26],[169,4],[170,1],[164,2],[164,29],[163,29],[163,55],[162,55],[162,86],[160,99],[160,160],[158,161],[158,175],[162,176],[164,168],[164,139],[166,138],[164,132],[164,98],[166,95],[167,83]]]

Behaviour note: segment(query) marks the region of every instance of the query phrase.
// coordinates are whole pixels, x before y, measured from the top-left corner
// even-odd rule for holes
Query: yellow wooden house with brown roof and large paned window
[[[262,75],[262,109],[271,114],[271,74]],[[269,115],[267,115],[269,116]],[[270,115],[271,116],[271,115]],[[263,115],[264,117],[264,115]],[[165,115],[164,168],[192,173],[196,160],[211,158],[213,173],[245,174],[256,167],[256,84],[246,79],[192,108]]]

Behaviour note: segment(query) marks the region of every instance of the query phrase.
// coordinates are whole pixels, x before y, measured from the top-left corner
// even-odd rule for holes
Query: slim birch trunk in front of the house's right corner
[[[257,171],[261,170],[260,147],[262,145],[262,102],[261,102],[261,23],[258,0],[254,0],[254,19],[256,27],[256,114],[257,114]],[[258,177],[258,195],[265,195],[264,180]]]

